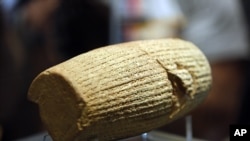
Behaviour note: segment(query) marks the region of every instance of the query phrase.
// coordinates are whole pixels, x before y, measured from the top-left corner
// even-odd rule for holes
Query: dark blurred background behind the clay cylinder
[[[196,44],[213,87],[192,111],[193,135],[224,140],[229,125],[250,124],[247,0],[0,0],[0,140],[45,131],[27,100],[41,71],[97,47],[178,37]],[[185,136],[181,118],[157,130]]]

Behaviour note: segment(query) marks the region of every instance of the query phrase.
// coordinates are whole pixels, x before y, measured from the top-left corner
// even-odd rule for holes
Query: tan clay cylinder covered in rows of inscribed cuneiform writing
[[[29,99],[54,141],[115,140],[167,124],[211,85],[203,53],[179,39],[102,47],[42,72]]]

